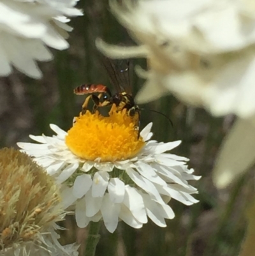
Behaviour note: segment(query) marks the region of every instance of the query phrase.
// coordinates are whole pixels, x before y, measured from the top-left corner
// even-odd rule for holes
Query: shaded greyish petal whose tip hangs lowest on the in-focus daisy
[[[106,229],[113,233],[119,222],[120,204],[115,204],[110,199],[110,195],[106,193],[101,206],[101,214]]]

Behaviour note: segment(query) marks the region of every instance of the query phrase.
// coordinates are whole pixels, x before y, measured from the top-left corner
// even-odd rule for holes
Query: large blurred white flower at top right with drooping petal
[[[172,93],[214,116],[240,117],[237,126],[242,123],[249,134],[231,131],[214,170],[216,186],[227,186],[255,160],[255,144],[252,149],[245,143],[237,150],[232,147],[242,136],[249,140],[255,135],[255,2],[113,0],[110,5],[138,46],[121,48],[101,40],[97,45],[113,58],[147,58],[149,70],[140,71],[146,82],[136,97],[138,103]],[[242,161],[235,165],[237,159]]]

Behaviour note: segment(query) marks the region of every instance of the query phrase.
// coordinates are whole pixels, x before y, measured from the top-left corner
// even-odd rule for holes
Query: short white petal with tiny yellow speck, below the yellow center
[[[108,172],[96,172],[92,183],[92,197],[103,197],[109,181]]]

